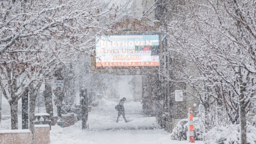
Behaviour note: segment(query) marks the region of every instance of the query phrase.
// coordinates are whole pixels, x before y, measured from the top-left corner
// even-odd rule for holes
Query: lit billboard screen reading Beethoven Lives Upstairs
[[[96,38],[95,66],[159,66],[159,35],[110,35]]]

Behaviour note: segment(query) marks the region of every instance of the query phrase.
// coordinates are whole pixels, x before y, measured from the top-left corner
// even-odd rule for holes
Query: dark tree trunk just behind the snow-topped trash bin
[[[52,120],[53,123],[53,106],[52,106],[52,87],[49,84],[45,84],[45,91],[43,93],[43,96],[45,97],[45,110],[46,113],[50,114],[50,120]]]

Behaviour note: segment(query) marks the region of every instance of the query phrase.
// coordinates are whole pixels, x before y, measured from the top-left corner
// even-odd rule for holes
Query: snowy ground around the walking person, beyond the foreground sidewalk
[[[107,99],[100,100],[98,107],[92,107],[89,113],[89,128],[97,130],[148,130],[159,128],[155,117],[145,117],[141,115],[142,104],[140,102],[125,103],[126,119],[129,121],[125,123],[123,116],[120,116],[119,123],[116,123],[118,111],[115,106],[118,102],[108,101]]]

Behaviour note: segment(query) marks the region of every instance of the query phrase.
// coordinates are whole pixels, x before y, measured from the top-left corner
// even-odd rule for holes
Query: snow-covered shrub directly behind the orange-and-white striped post
[[[193,118],[194,124],[194,139],[195,140],[203,140],[202,133],[203,129],[199,123],[197,118]],[[188,123],[187,118],[182,119],[178,122],[176,127],[174,127],[173,132],[171,133],[171,139],[176,139],[178,141],[187,140],[187,131],[188,131]]]

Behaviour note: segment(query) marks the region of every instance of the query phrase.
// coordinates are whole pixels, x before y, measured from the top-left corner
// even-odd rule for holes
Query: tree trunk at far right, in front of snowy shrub
[[[247,118],[246,109],[243,104],[239,104],[239,116],[240,116],[240,144],[247,144]]]

